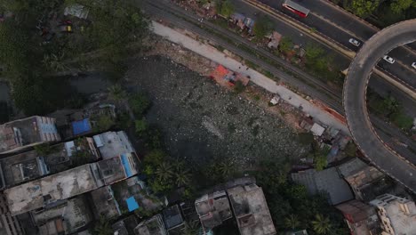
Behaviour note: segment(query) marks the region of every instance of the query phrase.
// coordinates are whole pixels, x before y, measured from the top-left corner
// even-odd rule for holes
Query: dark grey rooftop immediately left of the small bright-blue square
[[[97,190],[91,191],[92,202],[95,206],[94,212],[105,218],[114,218],[116,216],[122,215],[120,207],[116,199],[114,198],[114,192],[110,186],[101,187]]]

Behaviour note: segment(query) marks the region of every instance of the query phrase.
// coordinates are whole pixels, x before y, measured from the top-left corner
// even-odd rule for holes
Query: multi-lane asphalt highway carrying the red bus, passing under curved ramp
[[[311,11],[305,19],[284,9],[282,7],[283,1],[284,0],[260,0],[261,3],[268,4],[309,27],[316,28],[317,31],[323,33],[325,36],[329,36],[340,43],[340,45],[344,45],[354,52],[357,52],[359,47],[351,45],[348,42],[349,38],[354,37],[363,44],[364,41],[378,31],[376,28],[367,27],[362,21],[356,20],[348,13],[337,10],[327,3],[325,4],[324,0],[294,0]],[[416,89],[416,69],[411,67],[412,62],[416,62],[416,53],[402,46],[388,54],[395,58],[396,62],[390,64],[387,61],[381,60],[378,64],[380,68],[400,78],[404,83],[412,86],[413,89]]]

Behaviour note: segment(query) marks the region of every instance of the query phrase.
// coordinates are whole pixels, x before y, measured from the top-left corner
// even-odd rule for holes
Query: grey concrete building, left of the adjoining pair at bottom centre
[[[233,215],[225,190],[205,194],[195,201],[196,213],[204,231],[210,231]]]

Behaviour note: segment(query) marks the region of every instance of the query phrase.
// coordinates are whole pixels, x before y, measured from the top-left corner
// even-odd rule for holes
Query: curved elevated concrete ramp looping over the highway
[[[416,192],[416,167],[391,150],[373,130],[366,107],[369,75],[380,56],[416,40],[416,20],[407,20],[372,36],[356,54],[344,83],[343,104],[349,130],[364,155],[380,170]],[[370,131],[372,130],[372,132]]]

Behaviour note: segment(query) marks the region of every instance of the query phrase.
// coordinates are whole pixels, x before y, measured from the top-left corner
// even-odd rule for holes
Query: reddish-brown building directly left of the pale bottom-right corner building
[[[359,200],[350,200],[336,207],[344,215],[351,235],[380,234],[380,221],[374,207]]]

